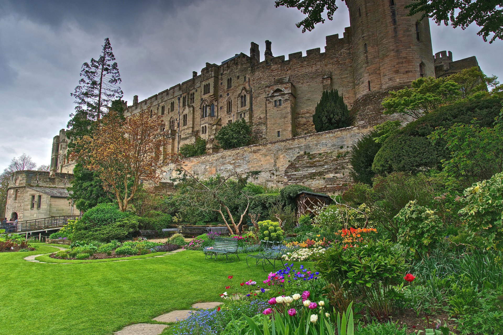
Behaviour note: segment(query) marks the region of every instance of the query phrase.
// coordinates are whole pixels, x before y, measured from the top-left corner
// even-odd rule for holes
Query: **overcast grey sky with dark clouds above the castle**
[[[344,3],[333,21],[302,34],[296,9],[273,0],[56,1],[0,0],[0,171],[23,152],[49,164],[52,138],[74,109],[82,63],[98,58],[110,38],[124,100],[142,100],[220,64],[250,42],[272,41],[274,56],[321,48],[325,36],[349,26]],[[503,42],[489,45],[467,30],[431,23],[433,51],[476,56],[488,75],[503,78]]]

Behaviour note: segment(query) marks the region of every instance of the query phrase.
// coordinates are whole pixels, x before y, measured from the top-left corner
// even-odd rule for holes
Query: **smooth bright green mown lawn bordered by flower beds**
[[[0,334],[112,334],[195,302],[218,301],[228,275],[237,281],[267,278],[262,267],[248,268],[244,257],[215,262],[200,251],[124,262],[23,259],[54,251],[40,244],[36,251],[0,253]]]

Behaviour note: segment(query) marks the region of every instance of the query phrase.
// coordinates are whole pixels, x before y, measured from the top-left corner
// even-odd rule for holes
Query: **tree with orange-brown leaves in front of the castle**
[[[162,167],[177,158],[165,153],[169,138],[159,133],[163,121],[151,115],[147,108],[124,120],[111,110],[92,136],[76,141],[85,149],[70,156],[83,161],[85,169],[98,172],[103,188],[116,197],[122,212],[142,182],[158,183]]]

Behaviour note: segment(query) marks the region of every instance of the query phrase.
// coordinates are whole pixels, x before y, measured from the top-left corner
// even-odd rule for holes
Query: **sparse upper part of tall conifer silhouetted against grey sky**
[[[112,101],[122,98],[119,84],[122,82],[117,62],[115,61],[112,45],[108,38],[102,46],[102,53],[98,59],[91,58],[91,62],[82,64],[81,79],[75,92],[75,112],[68,122],[68,136],[81,138],[92,132],[92,123],[99,120],[108,112]]]

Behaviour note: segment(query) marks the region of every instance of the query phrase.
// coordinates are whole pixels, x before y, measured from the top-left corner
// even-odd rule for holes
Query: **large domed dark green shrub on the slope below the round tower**
[[[449,128],[455,123],[470,124],[473,118],[481,127],[491,127],[501,109],[501,100],[465,99],[438,108],[391,135],[377,152],[372,170],[378,174],[393,171],[418,172],[426,168],[442,168],[441,160],[449,157],[445,141],[433,145],[428,139],[436,127]]]

